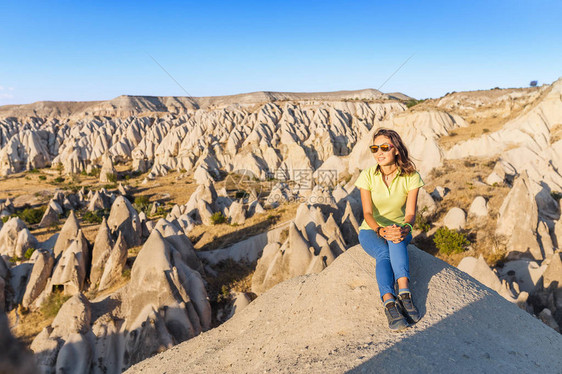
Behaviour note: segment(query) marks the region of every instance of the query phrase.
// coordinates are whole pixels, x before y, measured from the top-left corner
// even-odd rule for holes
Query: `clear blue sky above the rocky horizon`
[[[412,55],[381,91],[562,76],[556,0],[4,0],[0,14],[0,105],[379,88]]]

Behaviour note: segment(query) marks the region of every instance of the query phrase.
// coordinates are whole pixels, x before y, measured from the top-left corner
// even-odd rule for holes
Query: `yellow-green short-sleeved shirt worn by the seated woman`
[[[406,213],[408,192],[423,186],[425,183],[416,171],[411,175],[403,175],[401,170],[394,176],[389,187],[384,184],[378,165],[365,169],[357,178],[355,186],[371,191],[373,217],[379,226],[403,225]],[[363,220],[359,230],[372,230]]]

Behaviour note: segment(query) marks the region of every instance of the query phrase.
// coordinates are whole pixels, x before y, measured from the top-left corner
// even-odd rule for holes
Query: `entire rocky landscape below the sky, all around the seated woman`
[[[398,334],[357,240],[379,127],[426,183]],[[562,79],[0,107],[0,372],[559,372],[560,170]]]

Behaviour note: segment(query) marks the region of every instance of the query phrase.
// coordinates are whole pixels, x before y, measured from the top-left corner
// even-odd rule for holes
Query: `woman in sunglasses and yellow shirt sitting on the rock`
[[[376,259],[376,277],[388,326],[400,330],[420,319],[409,288],[407,245],[412,240],[418,190],[424,182],[396,131],[378,129],[370,149],[377,164],[363,170],[355,182],[361,191],[364,217],[359,242]]]

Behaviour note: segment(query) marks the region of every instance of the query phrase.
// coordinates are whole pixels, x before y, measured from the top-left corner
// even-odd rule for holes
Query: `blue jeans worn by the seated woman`
[[[376,276],[381,300],[383,295],[394,292],[396,279],[406,277],[410,280],[408,243],[412,234],[408,234],[400,243],[393,243],[380,238],[373,230],[359,230],[359,243],[371,257],[376,260]]]

